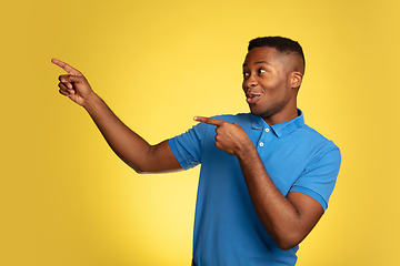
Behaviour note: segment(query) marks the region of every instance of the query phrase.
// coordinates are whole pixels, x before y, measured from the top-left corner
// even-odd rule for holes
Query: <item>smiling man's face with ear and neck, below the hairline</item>
[[[297,116],[298,88],[293,81],[300,76],[296,76],[291,58],[269,47],[254,48],[246,57],[242,88],[247,102],[251,113],[269,124]]]

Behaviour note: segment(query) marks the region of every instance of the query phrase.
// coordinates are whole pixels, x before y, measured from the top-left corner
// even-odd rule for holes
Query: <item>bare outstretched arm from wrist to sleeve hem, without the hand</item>
[[[123,124],[96,93],[91,94],[82,106],[114,153],[136,172],[164,172],[179,167],[171,154],[167,153],[168,141],[150,145]]]

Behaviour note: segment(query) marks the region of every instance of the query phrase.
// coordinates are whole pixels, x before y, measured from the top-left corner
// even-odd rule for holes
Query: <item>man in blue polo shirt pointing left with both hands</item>
[[[83,106],[112,150],[138,173],[201,164],[193,265],[294,265],[298,244],[328,206],[339,149],[304,124],[297,94],[304,74],[300,44],[251,40],[242,88],[251,113],[211,117],[187,133],[149,145],[91,90],[81,72],[52,62],[60,93]]]

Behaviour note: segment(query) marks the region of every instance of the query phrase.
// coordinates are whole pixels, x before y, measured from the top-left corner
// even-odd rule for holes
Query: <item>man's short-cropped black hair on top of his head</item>
[[[249,42],[248,51],[250,52],[251,49],[259,47],[274,48],[286,54],[296,53],[302,59],[303,65],[306,66],[304,53],[297,41],[284,37],[259,37]]]

